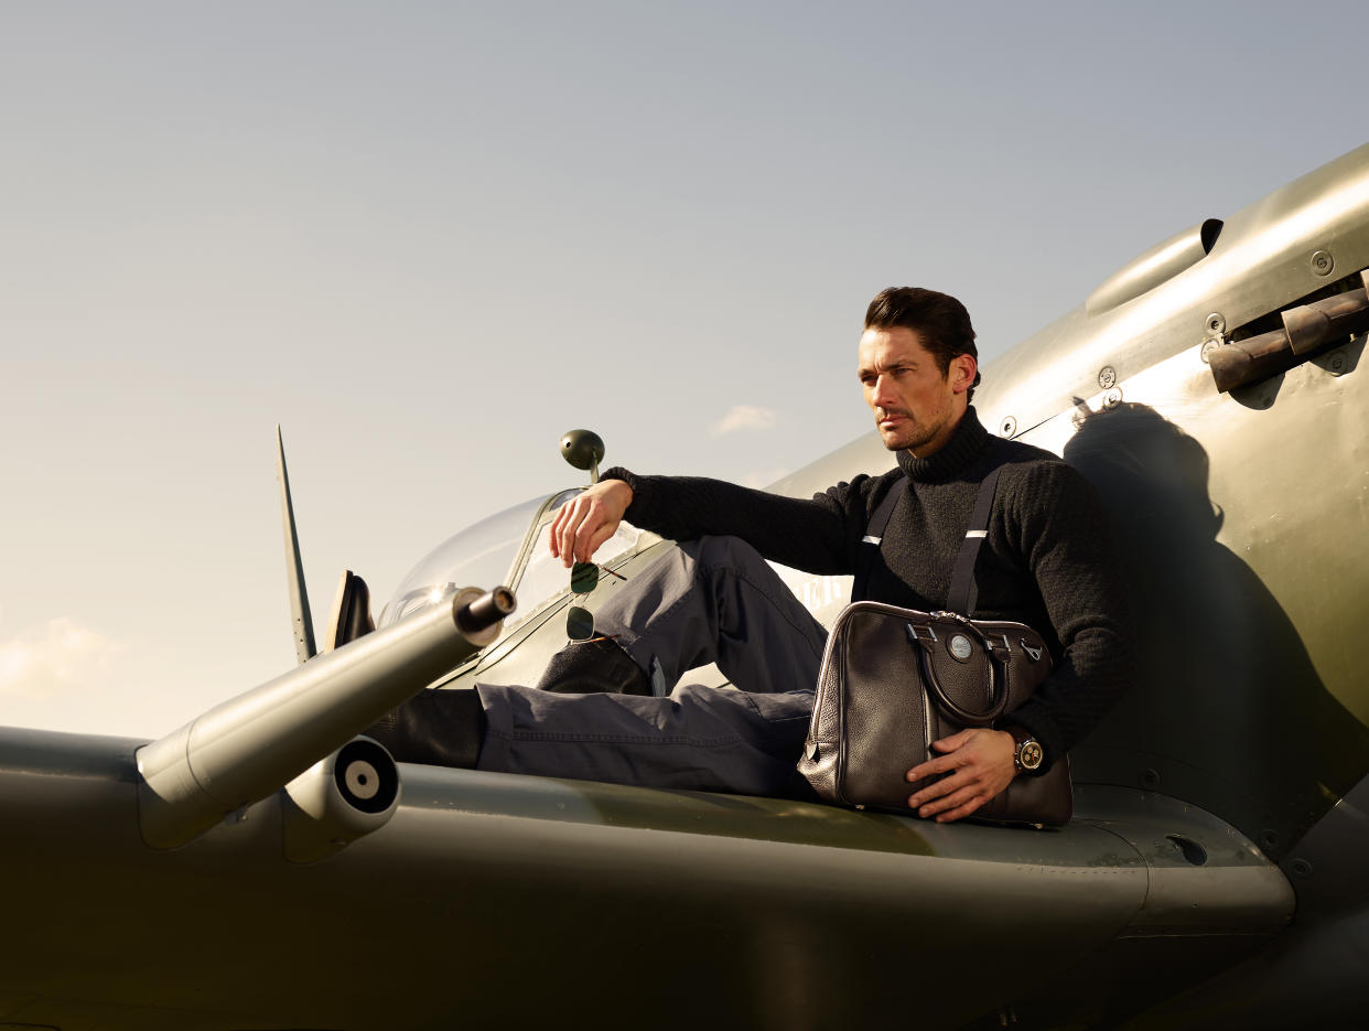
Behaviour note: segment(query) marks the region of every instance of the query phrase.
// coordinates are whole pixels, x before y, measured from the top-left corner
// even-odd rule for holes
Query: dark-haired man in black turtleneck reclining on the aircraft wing
[[[790,793],[812,711],[823,628],[765,564],[850,574],[871,515],[901,492],[865,597],[946,607],[951,565],[980,481],[1003,466],[976,565],[980,619],[1038,628],[1055,668],[999,728],[935,742],[908,779],[947,774],[909,795],[920,816],[972,815],[1013,776],[1025,750],[1050,764],[1127,683],[1120,590],[1102,507],[1058,457],[1023,444],[990,448],[969,405],[979,383],[975,331],[954,297],[917,288],[871,301],[860,340],[865,403],[897,468],[838,483],[810,501],[698,478],[608,470],[567,502],[552,552],[589,561],[622,519],[680,541],[597,615],[600,637],[570,645],[535,689],[427,691],[379,737],[401,759],[663,787]],[[717,661],[741,690],[678,685]],[[654,682],[654,683],[653,683]],[[654,687],[654,690],[653,690]],[[1029,765],[1029,764],[1028,764]]]

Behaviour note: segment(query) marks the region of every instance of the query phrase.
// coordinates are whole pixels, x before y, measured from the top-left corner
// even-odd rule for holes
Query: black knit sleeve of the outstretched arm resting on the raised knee
[[[834,575],[852,572],[873,482],[857,476],[805,501],[720,479],[642,476],[622,467],[602,478],[632,487],[626,519],[643,530],[675,541],[739,537],[772,561]]]

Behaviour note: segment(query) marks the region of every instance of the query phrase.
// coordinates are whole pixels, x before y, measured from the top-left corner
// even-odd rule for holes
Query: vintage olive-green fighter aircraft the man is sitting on
[[[1066,827],[396,764],[356,735],[397,701],[564,644],[567,492],[437,548],[374,630],[345,575],[319,654],[289,519],[296,670],[153,742],[0,730],[0,1027],[1355,1026],[1366,268],[1369,147],[987,370],[986,426],[1083,470],[1127,556],[1139,682]],[[887,466],[871,434],[772,489]],[[849,589],[786,575],[824,620]]]

